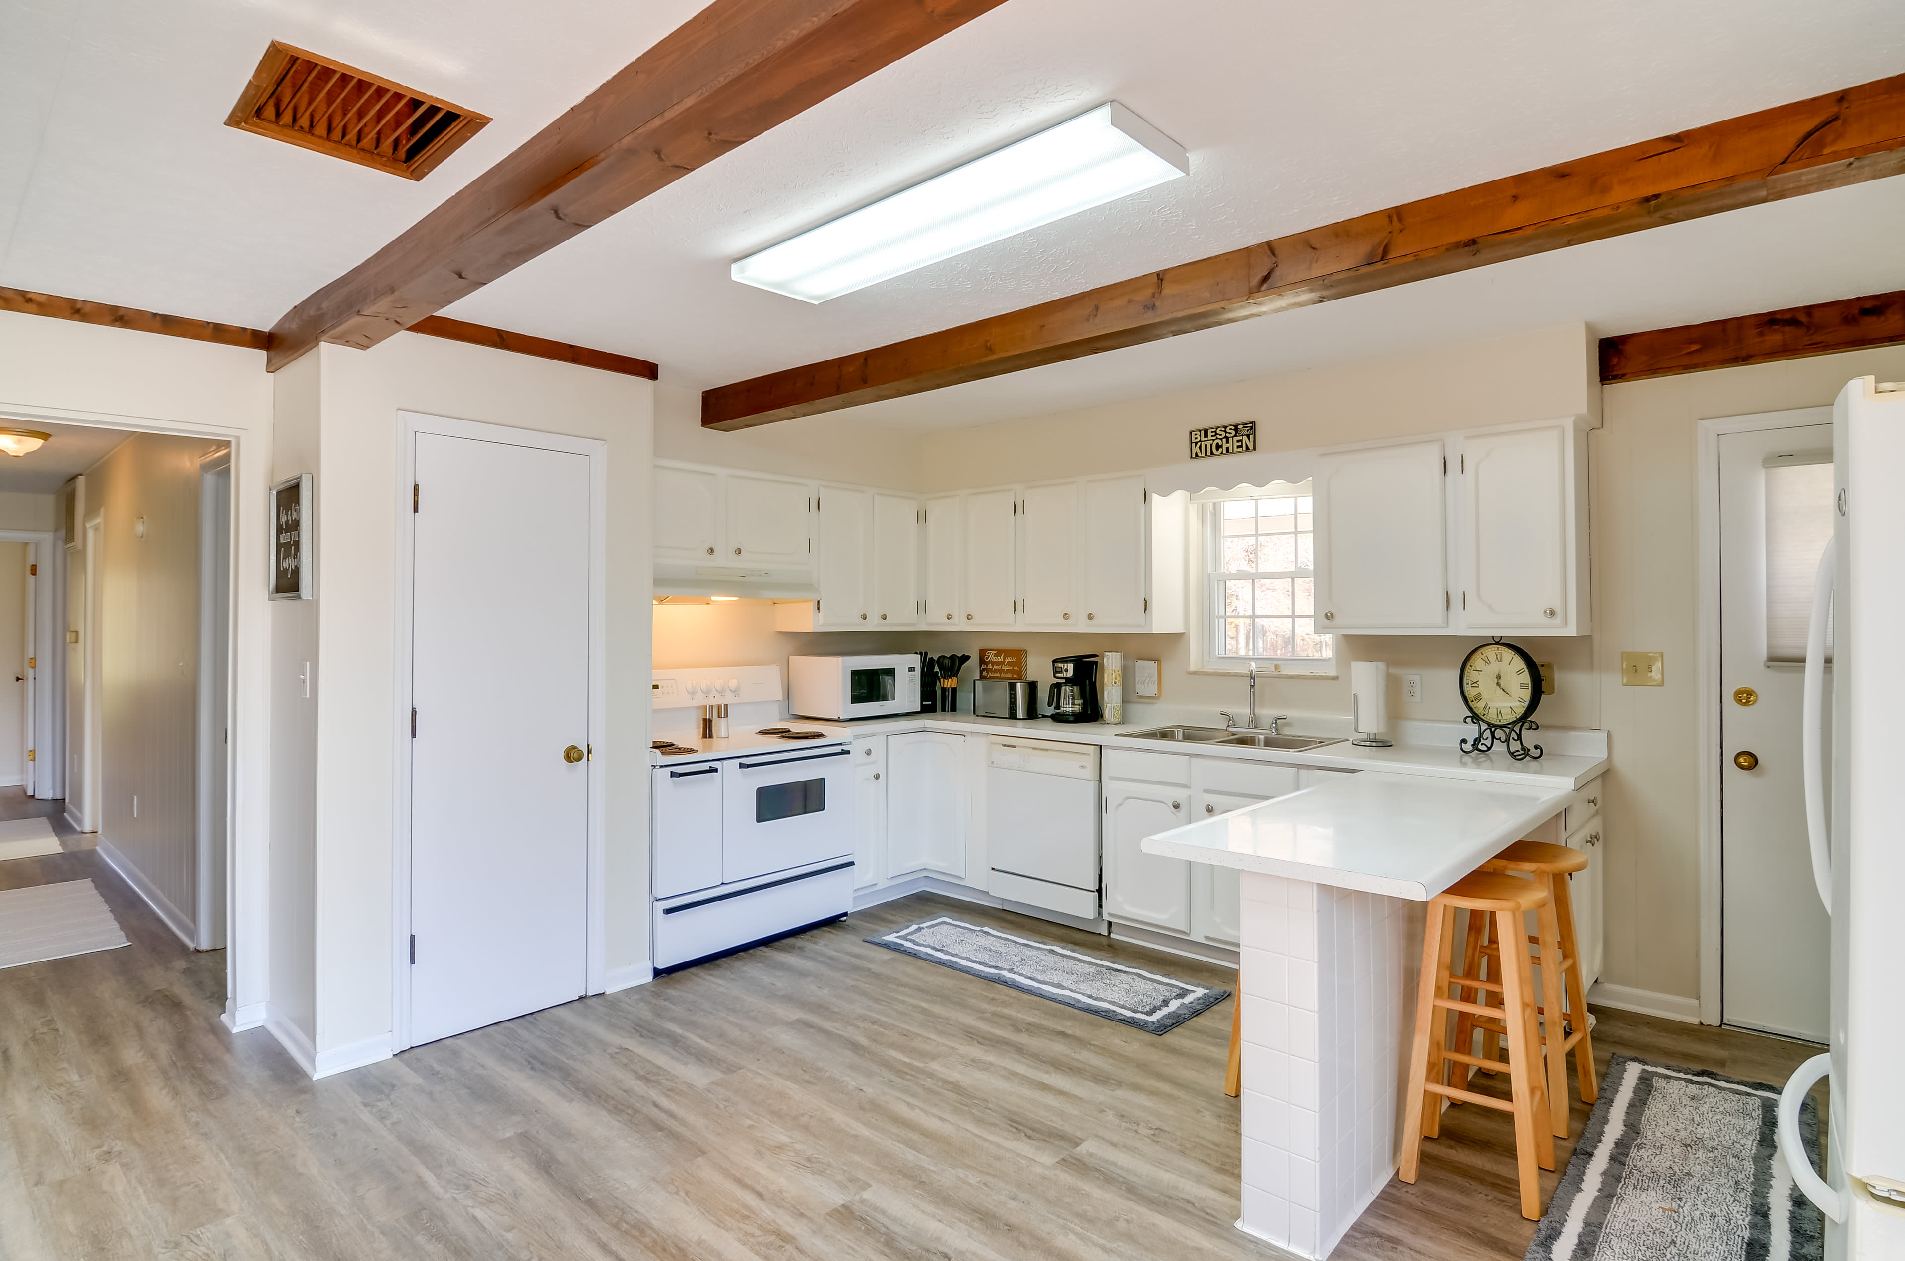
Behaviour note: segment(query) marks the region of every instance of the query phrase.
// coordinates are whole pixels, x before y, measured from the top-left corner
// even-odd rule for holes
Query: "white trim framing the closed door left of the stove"
[[[608,442],[573,438],[539,429],[512,429],[482,421],[461,421],[448,415],[398,411],[398,459],[402,470],[396,488],[396,688],[392,690],[391,764],[396,768],[391,806],[391,1050],[402,1051],[410,1040],[410,705],[411,705],[411,600],[415,592],[417,518],[404,482],[417,480],[417,434],[444,434],[476,442],[509,442],[545,451],[570,451],[589,461],[589,747],[608,749]],[[533,522],[524,522],[533,530]],[[608,777],[589,762],[589,992],[606,989],[608,918]]]

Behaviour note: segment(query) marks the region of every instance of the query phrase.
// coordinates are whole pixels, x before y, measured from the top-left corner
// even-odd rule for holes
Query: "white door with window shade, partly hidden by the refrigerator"
[[[1831,922],[1812,895],[1791,657],[1833,537],[1831,451],[1831,425],[1720,436],[1720,1019],[1812,1042],[1827,1040]]]

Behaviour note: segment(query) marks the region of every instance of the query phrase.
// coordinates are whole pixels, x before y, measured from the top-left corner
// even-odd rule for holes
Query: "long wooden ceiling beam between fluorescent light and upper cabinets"
[[[707,429],[981,381],[1905,171],[1905,74],[722,385]]]

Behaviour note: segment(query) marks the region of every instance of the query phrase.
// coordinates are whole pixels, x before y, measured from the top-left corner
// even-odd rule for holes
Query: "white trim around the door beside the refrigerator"
[[[1833,408],[1795,408],[1699,421],[1699,1023],[1720,1025],[1720,438],[1762,429],[1831,425]]]

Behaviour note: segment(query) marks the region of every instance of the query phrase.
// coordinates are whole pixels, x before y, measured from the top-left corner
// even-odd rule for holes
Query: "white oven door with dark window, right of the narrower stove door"
[[[722,773],[722,882],[853,851],[850,749],[752,754]]]

